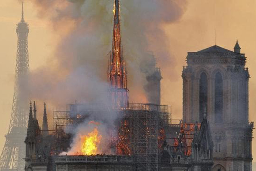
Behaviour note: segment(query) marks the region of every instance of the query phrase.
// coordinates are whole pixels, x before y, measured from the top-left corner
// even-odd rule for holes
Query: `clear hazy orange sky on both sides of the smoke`
[[[249,67],[249,119],[256,121],[256,1],[255,0],[190,0],[181,19],[162,27],[170,52],[175,58],[172,73],[165,68],[162,80],[162,104],[172,105],[172,117],[182,116],[182,66],[185,65],[187,52],[198,51],[216,44],[233,50],[236,39],[239,40],[241,53],[247,57]],[[57,46],[59,37],[47,20],[38,18],[37,10],[27,2],[24,6],[25,20],[29,24],[29,60],[30,69],[51,63],[49,60]],[[20,21],[21,4],[17,0],[0,2],[0,150],[4,145],[12,108],[14,68],[16,60],[17,34],[16,24]],[[111,34],[111,33],[110,33]],[[157,58],[157,57],[156,57]],[[159,66],[161,67],[161,66]],[[172,66],[173,67],[173,66]],[[129,79],[129,75],[128,75]],[[129,85],[128,85],[129,86]],[[36,100],[36,99],[34,99]],[[38,104],[41,105],[42,104]],[[48,109],[51,114],[52,109]],[[42,111],[38,111],[42,115]],[[39,116],[42,118],[42,116]],[[51,115],[49,116],[51,118]],[[41,119],[39,120],[41,123]],[[256,146],[254,140],[253,146]],[[256,155],[256,148],[253,148]]]

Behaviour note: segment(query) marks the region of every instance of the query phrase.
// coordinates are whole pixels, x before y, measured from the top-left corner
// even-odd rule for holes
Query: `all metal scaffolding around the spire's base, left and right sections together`
[[[63,130],[99,112],[117,113],[114,128],[118,135],[111,142],[116,147],[116,154],[132,156],[134,170],[158,170],[161,141],[171,123],[171,106],[131,103],[129,108],[113,111],[103,104],[71,104],[66,111],[53,112],[54,126]]]

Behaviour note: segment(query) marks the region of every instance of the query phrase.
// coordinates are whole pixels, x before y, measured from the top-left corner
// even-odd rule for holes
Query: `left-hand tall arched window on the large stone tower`
[[[204,118],[204,113],[207,112],[207,76],[203,72],[200,76],[199,83],[199,121],[202,122]]]

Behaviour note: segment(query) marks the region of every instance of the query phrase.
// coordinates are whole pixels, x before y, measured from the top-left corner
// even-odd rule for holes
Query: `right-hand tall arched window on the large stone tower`
[[[214,111],[215,123],[222,123],[223,120],[223,80],[219,72],[215,75],[214,83]]]

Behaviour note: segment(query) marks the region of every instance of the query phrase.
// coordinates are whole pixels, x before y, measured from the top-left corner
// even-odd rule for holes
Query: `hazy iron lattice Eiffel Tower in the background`
[[[26,98],[22,94],[20,84],[25,81],[29,69],[28,44],[27,36],[29,33],[28,24],[23,17],[22,3],[22,19],[16,28],[17,42],[17,58],[15,69],[15,85],[12,102],[12,113],[9,130],[6,137],[5,145],[0,157],[0,168],[2,171],[7,170],[24,170],[25,162],[25,137],[27,130],[28,115],[26,112]]]

